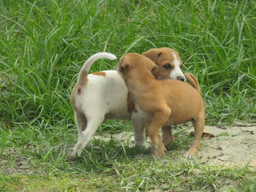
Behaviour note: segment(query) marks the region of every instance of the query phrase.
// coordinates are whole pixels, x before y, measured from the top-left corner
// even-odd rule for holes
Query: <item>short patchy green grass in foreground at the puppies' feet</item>
[[[85,151],[67,160],[67,147],[75,140],[75,128],[18,126],[2,133],[8,138],[1,157],[2,191],[254,191],[256,170],[247,166],[209,166],[177,158],[191,143],[178,137],[167,156],[121,143],[94,140],[102,150]],[[102,134],[107,137],[106,134]],[[2,137],[2,136],[1,136]],[[69,138],[69,139],[67,139]],[[15,147],[13,147],[15,146]]]

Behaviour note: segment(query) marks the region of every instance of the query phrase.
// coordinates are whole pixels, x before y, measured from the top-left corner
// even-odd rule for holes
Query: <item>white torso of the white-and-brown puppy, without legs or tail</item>
[[[129,119],[128,89],[116,71],[104,71],[105,76],[89,74],[84,91],[77,98],[78,109],[85,114],[101,112],[113,118]],[[98,111],[99,110],[99,111]]]

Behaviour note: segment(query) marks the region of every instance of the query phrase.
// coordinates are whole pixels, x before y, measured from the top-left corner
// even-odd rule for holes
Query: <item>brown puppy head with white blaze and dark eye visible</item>
[[[181,71],[183,64],[176,50],[167,47],[154,48],[146,51],[143,55],[157,64],[158,69],[153,73],[157,79],[185,80]]]

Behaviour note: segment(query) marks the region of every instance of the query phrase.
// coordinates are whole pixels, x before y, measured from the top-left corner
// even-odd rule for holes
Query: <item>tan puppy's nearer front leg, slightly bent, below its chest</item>
[[[154,113],[153,118],[151,119],[151,123],[149,124],[149,126],[147,126],[148,136],[151,139],[151,145],[155,157],[165,155],[166,148],[159,137],[159,130],[165,124],[169,116],[170,109],[165,108],[164,110],[164,108],[162,108],[162,111]]]

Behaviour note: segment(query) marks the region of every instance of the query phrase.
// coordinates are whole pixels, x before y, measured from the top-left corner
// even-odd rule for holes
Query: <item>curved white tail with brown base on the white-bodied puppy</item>
[[[110,60],[114,60],[116,59],[116,55],[113,55],[111,53],[96,53],[94,55],[91,55],[91,57],[87,59],[86,62],[83,64],[82,69],[78,74],[78,83],[80,85],[83,85],[83,83],[86,82],[87,75],[89,69],[91,68],[91,65],[94,64],[94,62],[99,60],[100,58],[108,58]]]

